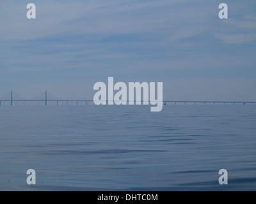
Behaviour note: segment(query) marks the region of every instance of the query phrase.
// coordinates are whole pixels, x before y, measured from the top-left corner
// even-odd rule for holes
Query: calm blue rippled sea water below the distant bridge
[[[255,105],[148,108],[0,106],[0,190],[256,190]]]

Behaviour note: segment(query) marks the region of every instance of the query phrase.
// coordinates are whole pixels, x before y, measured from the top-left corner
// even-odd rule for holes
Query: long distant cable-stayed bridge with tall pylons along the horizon
[[[6,98],[7,96],[7,98]],[[50,96],[50,97],[49,97]],[[128,102],[128,101],[127,101]],[[134,101],[135,102],[135,101]],[[107,101],[108,104],[108,101]],[[135,103],[134,103],[135,104]],[[141,101],[143,104],[143,101]],[[166,101],[163,100],[164,105],[255,105],[256,101]],[[44,92],[44,98],[42,94],[39,99],[24,99],[19,95],[16,98],[13,97],[13,91],[5,94],[0,98],[0,105],[94,105],[92,99],[58,99],[52,94],[48,94],[47,91]]]

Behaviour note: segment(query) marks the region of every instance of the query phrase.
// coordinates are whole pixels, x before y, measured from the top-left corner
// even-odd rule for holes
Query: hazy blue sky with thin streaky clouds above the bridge
[[[255,54],[255,0],[0,0],[0,99],[93,99],[114,77],[163,82],[165,100],[256,101]]]

